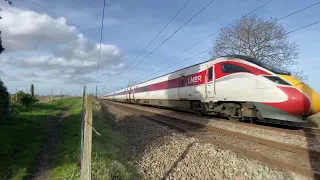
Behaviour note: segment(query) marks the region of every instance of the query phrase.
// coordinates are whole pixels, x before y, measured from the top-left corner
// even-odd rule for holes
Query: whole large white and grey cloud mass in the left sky
[[[2,57],[0,63],[21,68],[45,70],[47,77],[65,82],[84,84],[95,82],[85,76],[98,67],[100,44],[92,43],[74,26],[69,26],[64,17],[52,18],[47,14],[17,8],[4,8],[3,44],[6,53],[33,52],[50,47],[52,53],[37,56]],[[4,54],[5,55],[5,54]],[[123,52],[112,44],[101,44],[100,69],[117,71],[123,68]],[[25,77],[37,77],[26,73]]]

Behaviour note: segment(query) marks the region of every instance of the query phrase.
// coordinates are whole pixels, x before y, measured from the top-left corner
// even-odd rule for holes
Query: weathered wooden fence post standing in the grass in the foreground
[[[84,116],[83,159],[81,180],[91,180],[91,150],[92,150],[92,96],[87,97]]]

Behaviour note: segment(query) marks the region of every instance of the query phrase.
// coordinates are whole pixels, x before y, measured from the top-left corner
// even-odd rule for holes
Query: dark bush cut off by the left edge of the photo
[[[7,87],[4,86],[0,79],[0,122],[7,119],[9,114],[9,99],[10,95],[8,93]]]

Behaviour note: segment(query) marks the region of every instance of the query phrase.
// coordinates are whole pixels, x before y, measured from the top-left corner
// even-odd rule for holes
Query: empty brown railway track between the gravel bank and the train
[[[263,138],[237,133],[234,131],[228,131],[213,126],[190,122],[180,118],[171,117],[170,115],[149,112],[140,108],[136,108],[134,107],[134,105],[110,101],[104,102],[112,104],[113,106],[116,106],[120,109],[125,108],[126,111],[132,111],[135,114],[145,116],[153,121],[177,129],[190,136],[197,137],[206,143],[213,143],[224,149],[229,149],[239,154],[242,154],[248,158],[260,160],[266,164],[278,167],[286,171],[293,171],[307,177],[320,179],[319,151],[314,151],[308,148],[266,140]],[[255,126],[263,127],[261,125]],[[267,129],[271,129],[271,127],[267,127]],[[288,132],[297,133],[299,131]],[[310,131],[306,132],[317,133],[311,129]],[[306,132],[303,131],[303,133]],[[221,140],[221,138],[229,139],[229,142],[225,142],[224,140]],[[242,144],[245,144],[245,146],[243,146]],[[257,147],[259,147],[259,150],[257,150]],[[261,151],[261,149],[263,149],[264,151],[259,152]],[[270,153],[268,154],[268,152],[277,155],[272,156],[270,155]],[[283,156],[282,158],[284,159],[287,158],[287,160],[281,159],[281,156]]]

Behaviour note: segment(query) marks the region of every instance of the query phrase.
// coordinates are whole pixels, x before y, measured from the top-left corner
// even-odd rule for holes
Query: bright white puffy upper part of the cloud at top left
[[[5,52],[66,43],[76,38],[78,33],[76,27],[66,23],[64,17],[54,19],[47,14],[5,7],[0,22]]]

